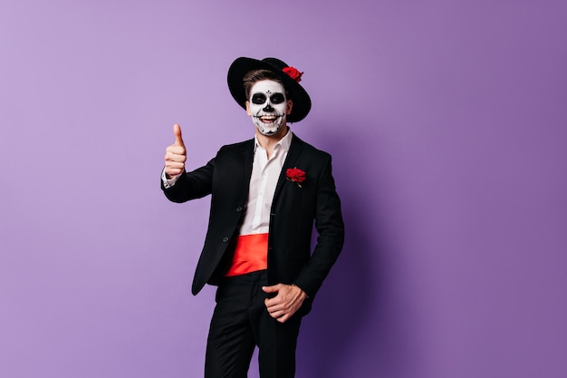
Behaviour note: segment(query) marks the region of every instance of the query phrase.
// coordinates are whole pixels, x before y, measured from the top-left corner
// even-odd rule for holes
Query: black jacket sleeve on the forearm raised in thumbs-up
[[[215,159],[210,160],[204,167],[191,172],[185,172],[175,185],[165,188],[161,181],[161,189],[172,202],[186,202],[190,199],[200,199],[211,193]]]

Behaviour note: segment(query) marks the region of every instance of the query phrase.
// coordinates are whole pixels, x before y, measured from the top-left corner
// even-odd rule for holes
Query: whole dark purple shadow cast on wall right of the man
[[[396,243],[389,236],[389,216],[380,211],[388,194],[376,180],[381,164],[372,156],[375,149],[360,150],[368,146],[365,138],[347,130],[318,137],[317,146],[332,152],[345,245],[311,314],[303,319],[298,378],[342,378],[351,373],[411,376],[407,363],[415,351],[408,347],[413,336],[405,330],[410,319],[395,293],[403,277],[392,266]]]

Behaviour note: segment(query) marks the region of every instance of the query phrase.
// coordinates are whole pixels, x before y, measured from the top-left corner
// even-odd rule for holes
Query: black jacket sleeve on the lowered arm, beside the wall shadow
[[[341,200],[332,178],[331,156],[323,165],[318,179],[315,208],[315,229],[317,244],[311,258],[301,269],[294,284],[303,289],[310,298],[314,297],[332,265],[341,253],[344,243],[344,224],[341,214]]]

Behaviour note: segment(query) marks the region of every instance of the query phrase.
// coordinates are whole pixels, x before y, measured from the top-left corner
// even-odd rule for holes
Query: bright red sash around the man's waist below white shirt
[[[240,276],[268,267],[268,234],[241,235],[226,276]]]

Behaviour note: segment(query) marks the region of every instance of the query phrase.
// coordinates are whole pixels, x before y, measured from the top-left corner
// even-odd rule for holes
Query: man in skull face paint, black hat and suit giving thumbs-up
[[[341,252],[341,203],[331,156],[297,138],[311,99],[295,68],[241,57],[228,87],[255,125],[255,138],[222,147],[206,166],[185,171],[186,150],[166,150],[162,189],[185,202],[211,194],[194,295],[218,286],[207,338],[205,376],[245,377],[255,345],[262,378],[292,378],[303,315]],[[311,251],[313,222],[318,238]]]

